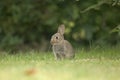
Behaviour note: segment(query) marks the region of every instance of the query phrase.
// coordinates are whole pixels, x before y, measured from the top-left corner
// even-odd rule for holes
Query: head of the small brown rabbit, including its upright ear
[[[58,45],[62,43],[62,41],[64,40],[64,32],[65,32],[65,26],[62,24],[58,27],[57,33],[55,33],[52,36],[50,43],[52,45]]]

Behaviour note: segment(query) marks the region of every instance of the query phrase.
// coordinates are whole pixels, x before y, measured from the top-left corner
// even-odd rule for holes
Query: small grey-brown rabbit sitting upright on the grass
[[[56,60],[72,59],[75,57],[72,45],[64,39],[64,32],[65,25],[62,24],[58,27],[57,33],[55,33],[50,40]]]

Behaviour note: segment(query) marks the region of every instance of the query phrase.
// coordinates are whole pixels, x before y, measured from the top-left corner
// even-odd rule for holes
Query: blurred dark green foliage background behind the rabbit
[[[74,47],[120,42],[120,0],[0,0],[0,50],[47,51],[65,24]]]

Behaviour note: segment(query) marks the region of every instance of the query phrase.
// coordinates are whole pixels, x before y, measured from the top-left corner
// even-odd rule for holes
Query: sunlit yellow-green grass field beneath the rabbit
[[[76,49],[73,60],[51,52],[0,53],[0,80],[120,80],[120,47]]]

